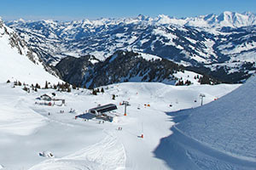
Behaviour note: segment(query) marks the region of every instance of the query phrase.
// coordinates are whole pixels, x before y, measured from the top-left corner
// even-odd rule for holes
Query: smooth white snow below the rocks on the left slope
[[[6,27],[8,28],[8,27]],[[0,31],[3,33],[3,27]],[[9,29],[9,32],[13,32]],[[0,82],[15,80],[26,82],[28,84],[39,83],[44,85],[45,81],[57,83],[61,82],[58,78],[44,71],[44,66],[37,61],[37,64],[32,63],[26,56],[27,48],[21,48],[22,54],[19,54],[18,48],[12,48],[9,44],[9,35],[3,33],[0,36]]]

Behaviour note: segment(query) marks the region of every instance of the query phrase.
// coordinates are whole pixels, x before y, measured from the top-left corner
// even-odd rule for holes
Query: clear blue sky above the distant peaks
[[[81,20],[155,17],[166,14],[177,18],[224,11],[256,13],[256,0],[3,0],[3,20]]]

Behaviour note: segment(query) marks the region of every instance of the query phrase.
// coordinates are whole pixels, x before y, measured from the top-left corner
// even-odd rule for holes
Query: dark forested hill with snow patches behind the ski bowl
[[[164,82],[171,85],[215,84],[168,59],[119,50],[100,61],[93,55],[66,57],[55,65],[61,79],[77,87],[96,88],[117,82]],[[204,77],[204,80],[202,80]]]

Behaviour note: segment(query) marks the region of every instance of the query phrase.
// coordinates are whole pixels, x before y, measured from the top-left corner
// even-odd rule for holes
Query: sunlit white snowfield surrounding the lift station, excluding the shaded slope
[[[109,170],[171,169],[153,153],[175,124],[166,111],[201,105],[199,94],[206,94],[206,104],[240,85],[175,87],[159,82],[124,82],[102,87],[105,93],[97,95],[82,88],[71,93],[38,89],[27,94],[22,87],[12,86],[0,83],[0,167]],[[44,105],[37,99],[52,93],[65,99],[65,105]],[[119,105],[123,100],[131,104],[127,116],[124,106]],[[92,107],[108,103],[118,106],[112,112],[114,122],[75,119]]]

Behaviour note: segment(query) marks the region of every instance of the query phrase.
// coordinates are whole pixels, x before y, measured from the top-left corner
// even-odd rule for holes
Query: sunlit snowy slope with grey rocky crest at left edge
[[[28,84],[60,80],[45,71],[45,65],[15,31],[0,20],[0,82],[20,81]],[[60,81],[61,82],[61,81]]]

